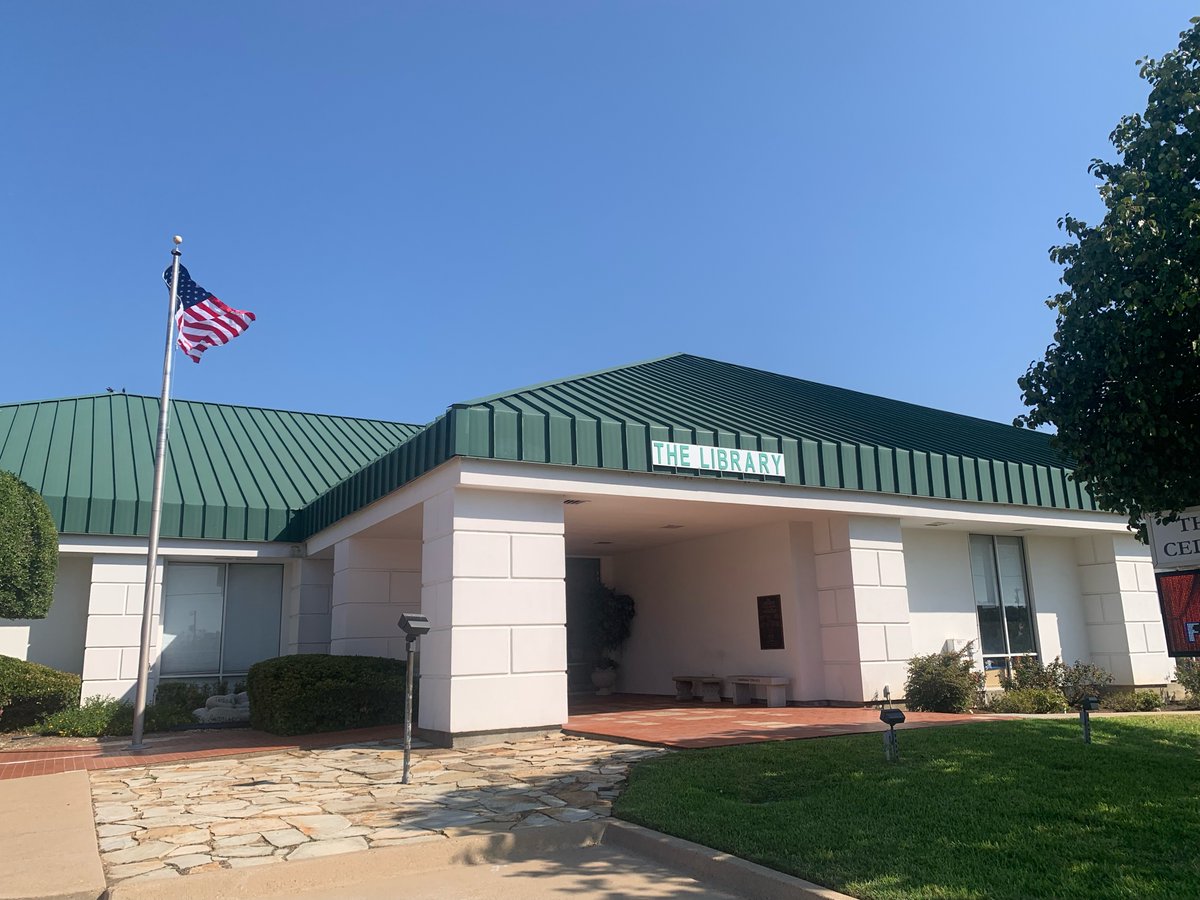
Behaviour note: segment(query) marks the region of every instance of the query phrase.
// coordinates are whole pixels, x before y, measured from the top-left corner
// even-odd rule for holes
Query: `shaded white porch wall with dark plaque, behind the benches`
[[[821,628],[808,523],[775,523],[614,556],[613,587],[637,602],[617,688],[671,694],[674,674],[770,674],[790,700],[821,700]],[[763,650],[757,598],[779,594],[784,647]]]

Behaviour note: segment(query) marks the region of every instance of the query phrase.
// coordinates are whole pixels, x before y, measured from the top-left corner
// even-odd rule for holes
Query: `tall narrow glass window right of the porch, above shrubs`
[[[998,677],[1013,656],[1037,654],[1021,539],[972,534],[971,581],[984,670]]]

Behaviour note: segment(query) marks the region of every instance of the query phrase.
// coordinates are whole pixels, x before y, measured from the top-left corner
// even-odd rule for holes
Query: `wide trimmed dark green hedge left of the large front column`
[[[250,724],[271,734],[366,728],[404,720],[404,662],[323,653],[256,662]]]

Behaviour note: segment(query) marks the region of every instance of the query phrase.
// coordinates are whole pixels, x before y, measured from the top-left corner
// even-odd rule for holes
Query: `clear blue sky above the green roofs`
[[[1184,2],[7,2],[0,402],[402,421],[677,350],[1008,421]]]

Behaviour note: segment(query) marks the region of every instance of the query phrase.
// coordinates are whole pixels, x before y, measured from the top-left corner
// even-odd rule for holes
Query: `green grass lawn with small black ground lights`
[[[1200,715],[688,750],[614,812],[860,898],[1200,898]]]

